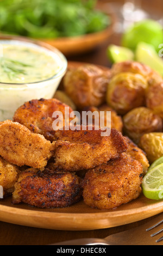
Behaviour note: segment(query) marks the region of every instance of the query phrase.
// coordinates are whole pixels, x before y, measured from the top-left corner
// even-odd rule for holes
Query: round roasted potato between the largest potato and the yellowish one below
[[[152,109],[134,108],[123,117],[124,133],[136,144],[149,132],[162,132],[162,119]]]

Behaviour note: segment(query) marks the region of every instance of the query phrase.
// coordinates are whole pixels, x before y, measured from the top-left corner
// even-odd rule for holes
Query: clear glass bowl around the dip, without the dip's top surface
[[[67,70],[67,60],[65,56],[48,44],[40,41],[30,40],[21,36],[0,36],[0,43],[5,40],[9,44],[12,41],[20,44],[25,44],[29,47],[42,47],[50,51],[54,58],[60,63],[60,68],[54,76],[44,80],[36,81],[34,83],[0,83],[0,121],[7,119],[12,120],[12,117],[18,107],[24,102],[33,99],[51,99],[57,90],[62,77]]]

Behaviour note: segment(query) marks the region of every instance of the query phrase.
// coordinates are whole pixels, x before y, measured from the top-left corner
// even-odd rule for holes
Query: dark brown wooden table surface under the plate
[[[151,10],[153,9],[155,12],[158,11],[158,14],[160,14],[160,10],[162,10],[161,7],[163,5],[162,0],[143,0],[142,2],[147,9],[149,8],[150,5]],[[92,52],[85,53],[80,56],[67,57],[67,59],[70,61],[89,62],[104,66],[110,66],[111,64],[109,63],[109,60],[106,57],[106,48],[111,43],[119,44],[119,42],[120,35],[113,34],[108,41],[106,41],[103,45],[96,48]],[[121,231],[137,227],[143,223],[146,223],[147,221],[150,221],[153,218],[154,217],[151,217],[143,221],[122,225],[120,227],[91,231],[49,230],[0,222],[0,245],[48,245],[55,242],[61,242],[65,240],[78,239],[84,237],[104,238],[105,236],[116,234]]]

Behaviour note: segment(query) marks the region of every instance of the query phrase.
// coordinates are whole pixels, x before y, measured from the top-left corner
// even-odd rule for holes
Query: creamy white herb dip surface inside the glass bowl
[[[1,83],[39,82],[53,77],[59,69],[56,54],[45,48],[16,41],[0,43]]]

